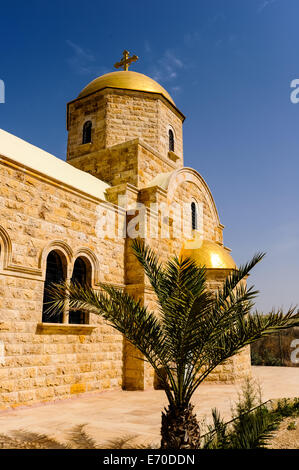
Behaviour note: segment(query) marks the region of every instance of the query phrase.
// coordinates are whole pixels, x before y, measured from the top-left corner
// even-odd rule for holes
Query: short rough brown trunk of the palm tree
[[[193,405],[169,405],[162,411],[161,449],[198,449],[200,428]]]

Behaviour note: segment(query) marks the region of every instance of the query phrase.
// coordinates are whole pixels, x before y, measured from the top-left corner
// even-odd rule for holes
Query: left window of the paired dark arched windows
[[[43,299],[43,322],[44,323],[62,323],[62,312],[56,315],[46,314],[46,310],[49,308],[48,302],[51,297],[48,292],[48,287],[52,284],[58,284],[65,280],[63,264],[60,255],[56,251],[50,251],[47,257],[47,268],[46,268],[46,279],[44,287],[44,299]]]

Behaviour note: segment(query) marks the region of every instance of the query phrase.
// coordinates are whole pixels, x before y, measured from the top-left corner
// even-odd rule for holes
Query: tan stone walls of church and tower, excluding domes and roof
[[[91,120],[92,143],[82,145],[82,128]],[[175,135],[168,152],[168,130]],[[75,167],[108,182],[106,200],[59,184],[5,162],[0,166],[0,409],[73,394],[124,387],[153,386],[152,368],[139,353],[99,317],[87,325],[42,323],[47,255],[56,250],[71,279],[77,257],[88,260],[92,286],[107,282],[124,288],[158,312],[156,299],[122,233],[99,236],[118,220],[116,231],[136,214],[126,211],[138,203],[147,207],[150,225],[142,238],[162,261],[179,254],[189,234],[162,235],[168,219],[151,203],[203,204],[204,238],[222,242],[213,198],[194,170],[184,169],[182,116],[159,95],[106,89],[69,104],[68,160]],[[162,175],[162,178],[160,176]],[[156,177],[160,182],[153,183]],[[158,178],[158,179],[159,179]],[[118,196],[122,196],[122,201]],[[190,216],[186,214],[186,223]],[[171,219],[171,214],[170,214]],[[171,224],[171,220],[170,220]],[[163,232],[165,233],[165,232]],[[210,288],[221,285],[228,272],[209,273]],[[250,373],[248,349],[217,368],[210,379],[232,382]]]

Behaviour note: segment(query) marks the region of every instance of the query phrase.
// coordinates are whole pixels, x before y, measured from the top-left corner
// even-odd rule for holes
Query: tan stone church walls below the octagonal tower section
[[[107,191],[112,205],[9,162],[0,166],[0,341],[4,345],[0,408],[154,384],[152,368],[137,360],[134,348],[95,315],[89,329],[69,325],[69,329],[49,330],[40,325],[46,258],[52,249],[62,254],[69,279],[75,259],[85,256],[92,266],[95,288],[100,281],[124,287],[157,311],[148,282],[130,252],[130,240],[98,236],[99,208],[104,205],[108,219],[112,218],[121,212],[113,204],[122,194],[128,196],[127,208],[144,202],[146,214],[156,217],[149,202],[182,204],[195,198],[203,202],[204,238],[217,241],[222,230],[203,186],[178,180],[171,197],[166,189],[146,187],[157,174],[173,171],[173,164],[138,139],[71,161],[100,179],[104,179],[101,168],[105,168],[113,183]],[[178,254],[183,241],[183,237],[161,237],[165,223],[159,220],[157,238],[151,239],[149,233],[145,236],[163,261]],[[225,273],[220,271],[211,274],[211,289],[223,281]],[[235,381],[248,372],[250,358],[244,351],[215,370],[210,379]]]

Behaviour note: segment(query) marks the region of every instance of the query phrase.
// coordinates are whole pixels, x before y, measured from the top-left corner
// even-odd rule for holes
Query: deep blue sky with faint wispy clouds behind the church
[[[257,306],[299,304],[298,0],[1,3],[0,127],[65,158],[66,102],[113,70],[123,49],[187,116],[198,170],[237,263],[267,252]]]

